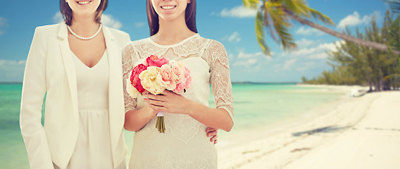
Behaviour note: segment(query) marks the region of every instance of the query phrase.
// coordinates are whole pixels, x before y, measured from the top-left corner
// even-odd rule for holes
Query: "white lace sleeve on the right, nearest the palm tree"
[[[215,108],[224,108],[234,120],[232,83],[230,82],[229,61],[225,47],[220,42],[211,40],[206,48],[211,67],[211,89],[213,91]]]

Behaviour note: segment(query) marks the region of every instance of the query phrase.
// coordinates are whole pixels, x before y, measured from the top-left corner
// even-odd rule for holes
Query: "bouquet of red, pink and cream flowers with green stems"
[[[130,79],[127,79],[127,93],[133,98],[148,91],[161,94],[165,89],[182,94],[192,83],[190,70],[182,62],[169,61],[164,56],[151,55],[133,68]],[[165,132],[164,113],[157,113],[156,128]]]

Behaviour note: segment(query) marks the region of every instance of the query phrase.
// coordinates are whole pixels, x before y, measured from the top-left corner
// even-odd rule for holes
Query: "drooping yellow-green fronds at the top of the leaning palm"
[[[258,9],[255,23],[257,42],[263,53],[268,56],[271,54],[265,43],[265,29],[268,30],[268,34],[273,37],[275,42],[282,45],[283,49],[296,49],[296,43],[289,31],[289,27],[293,26],[290,15],[304,18],[312,16],[316,20],[333,25],[327,15],[308,7],[305,0],[242,0],[242,2],[246,8]]]

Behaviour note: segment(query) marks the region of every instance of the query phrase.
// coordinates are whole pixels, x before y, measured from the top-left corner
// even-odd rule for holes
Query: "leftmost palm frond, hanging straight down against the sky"
[[[263,15],[263,10],[260,8],[257,11],[256,14],[256,37],[257,37],[257,42],[261,47],[261,50],[263,51],[264,54],[271,56],[270,54],[270,48],[265,44],[265,35],[264,35],[264,15]]]

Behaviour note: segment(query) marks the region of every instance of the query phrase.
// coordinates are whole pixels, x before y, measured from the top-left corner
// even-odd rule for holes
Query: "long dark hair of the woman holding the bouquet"
[[[154,11],[153,4],[151,4],[151,0],[147,0],[146,4],[147,11],[147,20],[149,21],[150,28],[150,36],[155,35],[160,28],[158,23],[158,14]],[[197,33],[196,28],[196,0],[191,0],[190,4],[187,4],[185,11],[185,20],[186,25],[189,27],[189,30]]]

